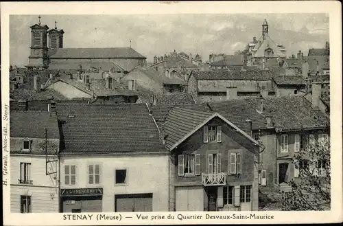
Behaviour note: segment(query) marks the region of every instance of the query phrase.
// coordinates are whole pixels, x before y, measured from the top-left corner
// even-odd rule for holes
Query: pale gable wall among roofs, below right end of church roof
[[[155,93],[163,93],[163,84],[156,82],[149,76],[143,73],[140,69],[134,69],[130,71],[126,76],[124,76],[122,81],[126,80],[136,80],[137,84],[144,89],[153,91]]]

